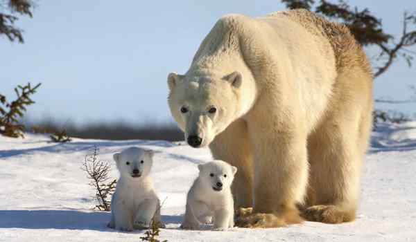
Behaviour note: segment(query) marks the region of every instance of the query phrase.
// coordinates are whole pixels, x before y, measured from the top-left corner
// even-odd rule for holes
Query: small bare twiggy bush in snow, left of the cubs
[[[98,205],[94,208],[102,211],[110,211],[111,196],[116,189],[117,181],[110,178],[110,164],[99,160],[98,153],[99,149],[94,146],[92,153],[85,156],[81,169],[87,172],[87,177],[90,179],[89,185],[94,187],[96,191],[94,197]]]

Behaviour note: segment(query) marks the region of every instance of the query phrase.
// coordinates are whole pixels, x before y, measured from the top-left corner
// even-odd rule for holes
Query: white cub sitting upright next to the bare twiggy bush
[[[120,178],[111,201],[108,227],[132,231],[150,226],[152,219],[159,226],[160,202],[149,173],[153,151],[130,147],[113,156]]]

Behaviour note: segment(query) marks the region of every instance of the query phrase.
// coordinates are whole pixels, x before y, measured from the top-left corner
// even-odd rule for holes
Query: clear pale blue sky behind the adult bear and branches
[[[416,11],[414,0],[349,3],[369,8],[393,34],[401,32],[404,10]],[[17,22],[25,44],[0,38],[0,93],[14,97],[17,84],[42,82],[28,110],[35,120],[171,121],[166,76],[187,71],[216,20],[276,10],[284,10],[278,0],[37,1],[33,19]],[[375,96],[413,95],[414,66],[396,62],[376,79]],[[416,110],[416,104],[387,107]]]

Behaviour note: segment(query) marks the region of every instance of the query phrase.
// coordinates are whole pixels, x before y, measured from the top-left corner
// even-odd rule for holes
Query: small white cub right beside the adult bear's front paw
[[[222,160],[198,165],[198,178],[193,182],[187,196],[184,229],[197,229],[210,218],[215,230],[234,227],[234,200],[231,184],[237,168]]]

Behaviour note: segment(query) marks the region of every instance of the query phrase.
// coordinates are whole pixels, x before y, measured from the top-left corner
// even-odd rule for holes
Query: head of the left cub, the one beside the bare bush
[[[153,164],[153,151],[130,147],[114,153],[114,160],[120,176],[126,178],[144,178],[150,173]]]

